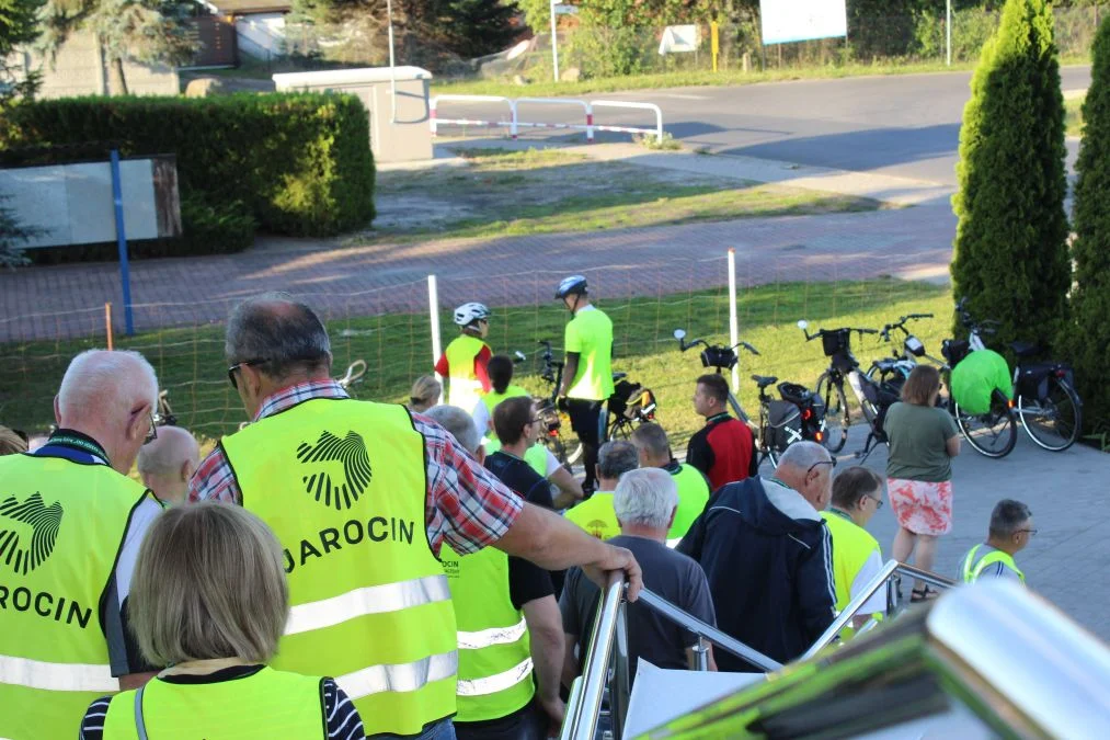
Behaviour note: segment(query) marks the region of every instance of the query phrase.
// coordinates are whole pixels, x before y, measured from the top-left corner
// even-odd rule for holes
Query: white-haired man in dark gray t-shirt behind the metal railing
[[[620,536],[609,541],[628,548],[636,556],[644,570],[645,588],[716,627],[713,598],[702,567],[665,544],[677,503],[674,479],[665,470],[645,468],[626,472],[613,496]],[[563,669],[567,684],[582,672],[582,660],[597,614],[599,594],[601,590],[583,574],[582,569],[573,568],[567,572],[559,599],[563,631],[567,636]],[[642,603],[629,603],[627,618],[628,670],[633,679],[640,657],[659,668],[693,667],[692,648],[697,644],[693,632]],[[716,670],[712,650],[709,666]]]

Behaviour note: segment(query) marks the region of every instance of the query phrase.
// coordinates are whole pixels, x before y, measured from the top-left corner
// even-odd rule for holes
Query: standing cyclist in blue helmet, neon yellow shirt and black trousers
[[[563,347],[566,367],[559,386],[559,404],[571,417],[571,428],[582,441],[582,463],[586,469],[584,491],[597,484],[597,448],[603,431],[602,404],[613,394],[613,322],[589,302],[586,278],[565,278],[555,291],[574,316],[566,324]]]

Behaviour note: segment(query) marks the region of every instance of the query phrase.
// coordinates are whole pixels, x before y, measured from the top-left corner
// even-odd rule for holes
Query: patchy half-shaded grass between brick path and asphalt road
[[[462,149],[465,164],[381,172],[359,239],[507,237],[866,211],[879,201],[529,149]]]

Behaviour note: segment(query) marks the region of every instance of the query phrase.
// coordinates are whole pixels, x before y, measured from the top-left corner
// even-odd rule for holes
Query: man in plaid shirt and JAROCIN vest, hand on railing
[[[292,609],[274,667],[334,676],[367,737],[454,738],[455,614],[438,560],[486,546],[547,570],[624,571],[628,550],[522,501],[443,427],[356,401],[330,377],[320,318],[290,296],[228,320],[228,376],[252,423],[224,437],[190,500],[239,502],[284,549]]]

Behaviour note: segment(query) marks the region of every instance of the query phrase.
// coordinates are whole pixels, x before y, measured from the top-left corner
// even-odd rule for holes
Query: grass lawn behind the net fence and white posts
[[[669,296],[606,300],[598,306],[614,322],[614,367],[650,387],[658,397],[659,421],[677,441],[700,426],[690,397],[694,380],[703,369],[697,352],[680,353],[672,338],[685,328],[690,338],[727,339],[728,296],[724,289]],[[814,327],[881,327],[900,314],[932,312],[918,336],[934,353],[948,336],[951,297],[947,288],[894,279],[837,283],[780,283],[740,292],[740,337],[755,344],[759,357],[741,358],[740,400],[756,411],[751,373],[776,374],[783,380],[813,383],[827,366],[820,342],[806,343],[795,327],[807,319]],[[496,352],[522,350],[529,359],[519,366],[518,380],[534,392],[544,391],[537,377],[536,341],[562,344],[565,310],[553,303],[496,308],[490,342]],[[444,341],[454,327],[447,313],[441,318]],[[431,371],[432,352],[426,314],[391,313],[329,321],[336,372],[356,358],[366,360],[365,382],[355,388],[359,398],[402,401],[420,374]],[[94,346],[91,340],[12,343],[3,347],[0,371],[0,423],[40,431],[53,420],[52,399],[74,353]],[[132,338],[120,338],[117,347],[142,351],[158,371],[179,422],[198,434],[219,437],[244,419],[238,394],[228,383],[223,360],[222,327],[167,329]],[[889,350],[874,337],[856,342],[855,350],[867,366]]]

